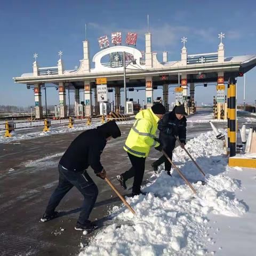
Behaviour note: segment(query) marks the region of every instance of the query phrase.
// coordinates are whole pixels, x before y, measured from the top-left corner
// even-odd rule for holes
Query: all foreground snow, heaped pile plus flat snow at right
[[[114,206],[110,213],[116,223],[100,230],[79,256],[255,255],[252,250],[244,251],[248,244],[256,249],[256,225],[248,223],[253,218],[255,222],[256,204],[247,194],[252,193],[250,186],[255,186],[255,173],[228,167],[223,141],[216,140],[213,132],[189,140],[186,148],[207,173],[206,185],[197,181],[204,177],[180,147],[175,149],[173,161],[190,181],[195,181],[192,184],[197,196],[176,171],[172,177],[163,170],[154,174],[152,183],[143,188],[146,196],[126,198],[136,214],[124,206]],[[239,180],[233,178],[237,172]],[[245,188],[244,177],[249,189]],[[232,241],[228,242],[229,236]]]

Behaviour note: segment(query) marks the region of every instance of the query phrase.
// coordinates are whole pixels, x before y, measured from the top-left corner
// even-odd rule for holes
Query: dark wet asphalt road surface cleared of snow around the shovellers
[[[209,113],[209,109],[202,109],[198,116]],[[248,121],[248,116],[243,114],[242,122]],[[226,128],[227,123],[216,123],[216,126]],[[129,189],[122,190],[115,177],[130,167],[129,158],[122,148],[131,124],[120,128],[122,137],[107,143],[101,162],[110,181],[123,195],[129,195],[132,180],[127,182]],[[194,138],[209,130],[209,123],[188,123],[187,137]],[[58,206],[59,218],[45,223],[39,221],[58,184],[59,159],[79,133],[81,131],[0,144],[0,255],[75,255],[81,242],[87,244],[97,234],[95,230],[90,236],[84,236],[74,229],[83,202],[76,188],[71,189]],[[153,173],[151,163],[159,156],[158,151],[151,150],[144,182]],[[91,168],[88,172],[99,187],[90,219],[102,226],[110,221],[108,211],[121,201]]]

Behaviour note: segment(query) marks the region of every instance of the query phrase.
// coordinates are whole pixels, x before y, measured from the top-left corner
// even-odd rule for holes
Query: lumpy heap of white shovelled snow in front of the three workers
[[[154,174],[143,188],[147,195],[127,198],[136,215],[124,206],[113,207],[117,223],[99,231],[79,256],[85,255],[204,255],[212,241],[208,237],[208,213],[238,217],[245,213],[234,191],[239,188],[223,172],[229,167],[224,157],[223,141],[207,132],[190,140],[186,148],[207,173],[206,185],[193,183],[197,196],[173,171],[173,177],[162,171]],[[202,174],[180,147],[173,160],[190,181]],[[163,168],[163,166],[161,166]],[[220,174],[221,173],[221,174]],[[121,225],[118,225],[121,222]],[[131,223],[127,224],[127,222]]]

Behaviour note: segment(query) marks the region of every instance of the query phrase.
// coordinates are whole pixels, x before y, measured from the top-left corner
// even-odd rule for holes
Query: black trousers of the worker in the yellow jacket
[[[136,194],[140,192],[140,186],[141,186],[143,175],[145,172],[146,157],[137,157],[130,153],[127,153],[127,154],[132,163],[132,167],[128,171],[122,173],[122,176],[124,180],[128,180],[134,177],[132,192]]]

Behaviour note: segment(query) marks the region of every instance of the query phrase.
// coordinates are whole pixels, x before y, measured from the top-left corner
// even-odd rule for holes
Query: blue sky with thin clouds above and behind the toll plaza
[[[12,77],[32,71],[33,54],[41,67],[56,66],[58,51],[66,69],[79,66],[87,23],[91,59],[100,49],[97,38],[111,31],[139,34],[137,48],[145,49],[147,14],[150,19],[153,51],[162,60],[164,38],[169,60],[180,60],[186,36],[188,53],[217,51],[218,34],[223,39],[225,56],[256,54],[256,3],[245,0],[187,1],[0,1],[0,105],[34,106],[34,94],[26,85],[15,84]],[[256,68],[246,74],[246,101],[256,100]],[[161,95],[157,90],[155,97]],[[238,102],[243,101],[243,78],[238,78]],[[215,87],[196,87],[196,101],[212,102]],[[71,94],[71,103],[74,94]],[[141,100],[145,93],[131,92]],[[170,101],[174,95],[170,94]],[[47,104],[58,102],[55,89],[47,91]]]

